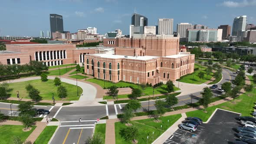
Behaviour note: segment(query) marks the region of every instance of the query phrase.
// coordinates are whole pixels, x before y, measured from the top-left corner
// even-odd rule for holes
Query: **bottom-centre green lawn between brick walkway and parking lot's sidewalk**
[[[131,124],[138,126],[139,128],[139,136],[137,138],[138,144],[146,144],[147,136],[148,144],[151,144],[155,139],[157,139],[164,131],[171,127],[174,122],[176,122],[179,118],[181,118],[181,114],[177,115],[169,115],[166,117],[159,118],[161,122],[154,122],[154,118],[131,121]],[[169,123],[167,122],[169,120]],[[162,131],[161,131],[162,125]],[[120,131],[123,128],[126,128],[125,124],[121,122],[115,123],[115,143],[116,144],[132,144],[131,141],[125,141],[123,137],[121,137]],[[154,135],[153,135],[154,132]]]

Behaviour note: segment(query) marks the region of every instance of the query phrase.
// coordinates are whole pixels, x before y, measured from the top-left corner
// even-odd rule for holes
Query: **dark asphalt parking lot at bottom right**
[[[232,144],[237,139],[234,128],[240,126],[235,119],[239,116],[219,109],[207,124],[198,126],[197,131],[178,129],[164,144]]]

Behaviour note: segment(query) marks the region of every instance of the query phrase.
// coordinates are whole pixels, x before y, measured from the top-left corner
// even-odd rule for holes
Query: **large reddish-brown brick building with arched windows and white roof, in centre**
[[[194,72],[194,55],[180,52],[179,37],[173,35],[135,35],[103,44],[115,47],[114,55],[85,55],[85,72],[98,79],[154,85]]]

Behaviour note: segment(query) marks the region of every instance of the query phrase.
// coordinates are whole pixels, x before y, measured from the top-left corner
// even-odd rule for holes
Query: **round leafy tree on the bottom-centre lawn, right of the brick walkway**
[[[136,142],[136,138],[139,136],[139,130],[137,126],[130,126],[120,131],[121,137],[126,141]]]

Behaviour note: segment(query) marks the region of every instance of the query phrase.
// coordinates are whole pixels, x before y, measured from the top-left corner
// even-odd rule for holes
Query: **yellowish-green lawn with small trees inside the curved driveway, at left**
[[[55,100],[66,100],[66,101],[75,101],[79,98],[77,97],[77,88],[75,85],[71,85],[65,82],[62,82],[61,85],[66,87],[68,92],[68,97],[61,99],[57,96],[57,89],[58,87],[54,85],[53,80],[49,79],[47,82],[42,82],[40,79],[38,80],[31,80],[26,82],[14,82],[10,83],[10,95],[11,97],[16,98],[17,92],[20,93],[20,98],[29,98],[28,94],[26,92],[26,85],[27,84],[33,85],[35,88],[37,88],[40,92],[40,96],[43,97],[44,100],[52,100],[52,96],[54,94]],[[82,93],[82,88],[79,87],[79,95]]]

